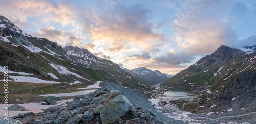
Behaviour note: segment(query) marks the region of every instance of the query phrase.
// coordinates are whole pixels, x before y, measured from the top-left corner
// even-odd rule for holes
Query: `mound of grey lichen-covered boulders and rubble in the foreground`
[[[24,113],[24,117],[20,116],[21,118],[18,118],[18,116],[14,116],[13,118],[18,118],[24,123],[32,123],[34,120],[40,120],[43,123],[55,124],[94,124],[100,122],[125,123],[128,121],[131,123],[161,123],[158,117],[156,117],[156,115],[152,112],[149,112],[148,109],[139,107],[138,104],[136,106],[133,106],[131,104],[133,101],[131,97],[123,95],[122,93],[136,93],[137,95],[132,97],[136,97],[136,100],[139,97],[139,99],[143,101],[148,99],[146,95],[141,95],[141,92],[137,92],[137,90],[130,90],[129,88],[124,88],[124,90],[118,85],[114,86],[111,84],[102,84],[102,88],[100,88],[100,90],[80,96],[80,100],[78,100],[78,98],[75,98],[75,101],[66,102],[67,106],[53,106],[45,109],[42,113],[37,113],[36,115]],[[109,85],[110,87],[106,87],[106,85]],[[115,91],[112,91],[112,86],[121,89],[115,89]],[[99,95],[101,92],[104,93]],[[142,102],[138,103],[143,104]],[[145,106],[145,104],[143,105]],[[150,106],[151,109],[155,108],[151,105],[150,102],[148,103],[148,106]]]

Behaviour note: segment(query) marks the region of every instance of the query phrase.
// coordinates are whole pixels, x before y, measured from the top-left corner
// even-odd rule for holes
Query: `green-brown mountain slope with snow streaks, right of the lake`
[[[237,73],[256,69],[255,47],[248,47],[248,49],[252,49],[249,54],[239,48],[222,45],[217,51],[203,57],[162,85],[173,90],[217,91]]]

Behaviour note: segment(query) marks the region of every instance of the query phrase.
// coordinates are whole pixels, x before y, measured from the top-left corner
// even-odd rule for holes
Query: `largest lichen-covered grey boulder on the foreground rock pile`
[[[100,112],[102,123],[113,123],[120,120],[128,110],[133,109],[132,104],[123,95],[118,95],[111,100]]]

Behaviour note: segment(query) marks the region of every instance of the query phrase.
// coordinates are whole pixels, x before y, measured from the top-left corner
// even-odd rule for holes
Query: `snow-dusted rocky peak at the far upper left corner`
[[[19,27],[15,26],[10,20],[8,20],[6,17],[0,15],[0,29],[10,29],[12,31],[15,31],[17,33],[23,34],[24,36],[32,37],[30,34],[25,32],[24,30],[20,29]]]

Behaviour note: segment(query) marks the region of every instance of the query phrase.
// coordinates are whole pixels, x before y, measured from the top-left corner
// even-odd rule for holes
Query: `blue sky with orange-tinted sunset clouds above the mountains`
[[[2,0],[0,15],[33,37],[168,74],[221,45],[256,45],[253,0]]]

